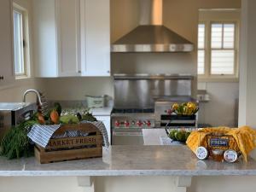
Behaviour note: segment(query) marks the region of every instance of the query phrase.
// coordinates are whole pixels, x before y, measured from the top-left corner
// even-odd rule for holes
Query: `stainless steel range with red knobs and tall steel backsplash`
[[[155,106],[160,98],[180,96],[189,101],[192,76],[114,75],[114,108],[111,114],[112,144],[143,144],[143,129],[161,127],[161,115],[171,108]],[[157,109],[157,110],[155,110]]]

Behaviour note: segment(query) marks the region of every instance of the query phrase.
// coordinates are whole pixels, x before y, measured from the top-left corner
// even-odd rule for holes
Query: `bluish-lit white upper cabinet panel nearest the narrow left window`
[[[35,76],[58,77],[55,0],[32,1],[33,60]]]

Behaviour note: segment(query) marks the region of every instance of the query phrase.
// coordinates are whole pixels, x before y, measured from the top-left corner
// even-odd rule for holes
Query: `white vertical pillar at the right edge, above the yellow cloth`
[[[242,1],[239,125],[256,128],[256,1]]]

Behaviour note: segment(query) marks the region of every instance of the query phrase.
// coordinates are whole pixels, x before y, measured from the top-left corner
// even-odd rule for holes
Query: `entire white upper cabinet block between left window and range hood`
[[[37,77],[109,76],[109,0],[33,0]]]

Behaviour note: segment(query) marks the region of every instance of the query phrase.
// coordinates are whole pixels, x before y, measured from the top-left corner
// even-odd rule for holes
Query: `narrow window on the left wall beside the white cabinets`
[[[13,25],[15,76],[19,79],[28,76],[29,42],[27,11],[16,3],[13,4]]]

